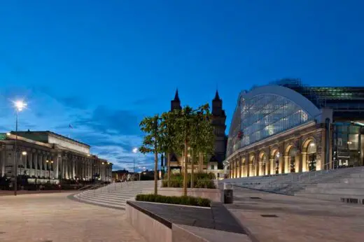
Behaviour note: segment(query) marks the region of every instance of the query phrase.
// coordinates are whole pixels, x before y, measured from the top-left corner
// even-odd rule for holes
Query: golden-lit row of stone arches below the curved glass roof
[[[323,150],[322,143],[313,137],[243,150],[228,159],[229,178],[325,169]]]

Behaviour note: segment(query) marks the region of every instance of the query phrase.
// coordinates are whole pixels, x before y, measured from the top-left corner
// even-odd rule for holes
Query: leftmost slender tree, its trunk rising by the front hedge
[[[139,151],[143,154],[154,153],[154,194],[158,194],[158,153],[160,152],[160,117],[146,117],[141,120],[139,127],[146,135]]]

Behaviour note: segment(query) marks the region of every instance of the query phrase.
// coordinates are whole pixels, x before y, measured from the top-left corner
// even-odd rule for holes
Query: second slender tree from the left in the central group
[[[176,126],[174,121],[178,112],[171,111],[162,113],[160,122],[161,150],[167,156],[167,187],[170,187],[171,180],[171,154],[176,148]]]

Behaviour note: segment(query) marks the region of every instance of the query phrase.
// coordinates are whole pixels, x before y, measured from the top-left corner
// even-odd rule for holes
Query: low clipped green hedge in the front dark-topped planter
[[[161,204],[179,204],[188,206],[201,206],[209,207],[211,204],[210,199],[204,199],[202,197],[190,197],[190,196],[162,196],[155,194],[137,194],[135,197],[137,201],[151,201]]]

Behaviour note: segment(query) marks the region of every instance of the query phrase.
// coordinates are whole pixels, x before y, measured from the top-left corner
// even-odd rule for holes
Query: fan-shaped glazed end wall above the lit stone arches
[[[234,130],[233,134],[229,134],[228,155],[232,148],[239,149],[309,120],[309,116],[300,106],[273,94],[241,99],[238,108],[239,115],[232,120],[232,126],[236,128],[231,129]],[[244,134],[241,139],[237,138],[239,131]]]

